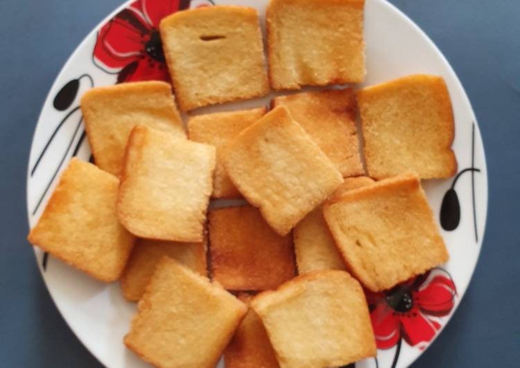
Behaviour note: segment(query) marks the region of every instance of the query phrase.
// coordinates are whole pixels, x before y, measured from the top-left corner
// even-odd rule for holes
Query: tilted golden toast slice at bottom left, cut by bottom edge
[[[246,311],[218,284],[163,257],[125,344],[157,367],[215,367]]]

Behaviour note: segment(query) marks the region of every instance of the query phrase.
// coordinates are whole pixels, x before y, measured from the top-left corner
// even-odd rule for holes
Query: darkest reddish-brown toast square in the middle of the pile
[[[269,290],[294,277],[290,235],[280,236],[258,208],[209,212],[211,278],[228,290]]]

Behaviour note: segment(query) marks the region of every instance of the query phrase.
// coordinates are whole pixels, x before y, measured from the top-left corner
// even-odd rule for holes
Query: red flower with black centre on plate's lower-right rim
[[[411,346],[423,343],[420,349],[424,349],[424,343],[430,342],[440,329],[438,317],[453,309],[456,295],[453,280],[440,268],[391,291],[367,292],[377,347],[390,349],[402,338]]]

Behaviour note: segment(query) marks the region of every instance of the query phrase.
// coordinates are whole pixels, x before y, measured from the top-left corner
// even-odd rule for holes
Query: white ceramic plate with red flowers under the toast
[[[258,8],[263,23],[267,0],[215,2]],[[159,20],[179,7],[212,5],[213,1],[208,0],[130,1],[102,21],[78,46],[56,78],[35,129],[27,178],[31,227],[70,158],[91,157],[79,110],[80,95],[92,86],[165,77],[156,36]],[[413,73],[442,75],[456,121],[454,151],[461,175],[423,183],[442,228],[450,261],[402,286],[411,304],[396,300],[392,292],[368,295],[379,349],[377,360],[357,362],[356,367],[406,367],[440,333],[472,277],[485,228],[487,170],[472,107],[440,51],[418,26],[386,1],[367,0],[365,13],[368,75],[363,85]],[[268,104],[271,97],[210,107],[202,112],[261,106]],[[44,256],[38,248],[35,255],[57,308],[87,349],[107,367],[144,367],[145,363],[123,346],[136,307],[123,299],[118,283],[96,282]]]

